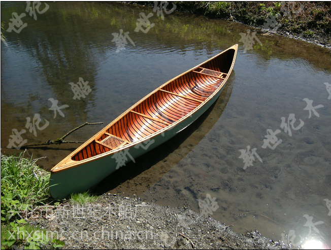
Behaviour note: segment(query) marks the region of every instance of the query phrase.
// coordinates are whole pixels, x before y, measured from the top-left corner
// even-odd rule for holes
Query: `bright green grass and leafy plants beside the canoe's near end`
[[[38,159],[24,158],[25,153],[1,156],[1,248],[41,249],[47,245],[56,249],[64,243],[48,237],[45,230],[29,226],[21,216],[50,199],[50,173],[36,165]]]

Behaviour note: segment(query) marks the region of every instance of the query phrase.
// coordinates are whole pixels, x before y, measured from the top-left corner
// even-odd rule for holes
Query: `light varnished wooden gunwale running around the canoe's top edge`
[[[87,158],[87,159],[83,159],[83,160],[80,160],[80,161],[74,161],[74,160],[72,160],[72,157],[74,155],[80,153],[82,150],[83,150],[83,153],[82,154],[84,156],[84,149],[85,149],[86,146],[88,146],[92,141],[94,141],[95,138],[101,138],[109,129],[112,128],[112,126],[114,124],[116,124],[118,121],[120,121],[128,113],[133,114],[133,112],[131,112],[132,110],[134,110],[137,106],[141,105],[144,101],[146,101],[148,98],[150,98],[156,92],[158,92],[159,90],[161,90],[164,87],[166,87],[168,84],[171,84],[172,82],[174,82],[174,81],[176,81],[178,79],[179,80],[182,80],[181,79],[182,76],[188,75],[189,73],[193,72],[198,67],[200,67],[202,65],[205,65],[205,64],[208,64],[209,62],[212,62],[216,57],[220,56],[221,54],[223,54],[226,51],[231,50],[231,49],[234,49],[235,50],[235,53],[234,53],[234,57],[232,59],[231,66],[230,66],[230,68],[228,70],[228,73],[227,73],[226,77],[221,79],[222,81],[219,83],[219,85],[216,84],[216,85],[218,85],[218,87],[216,87],[214,90],[212,88],[209,88],[209,90],[203,90],[203,92],[205,92],[205,91],[213,91],[213,93],[211,93],[211,95],[209,97],[207,97],[200,105],[198,105],[192,111],[190,111],[189,113],[187,113],[183,117],[179,118],[177,121],[173,122],[171,125],[166,126],[166,127],[162,128],[162,129],[159,129],[157,132],[152,133],[150,135],[147,135],[146,137],[143,137],[143,138],[141,138],[139,140],[136,140],[136,141],[134,141],[133,138],[130,137],[130,135],[129,135],[129,133],[127,131],[126,132],[122,131],[121,133],[123,134],[123,136],[125,135],[125,138],[129,137],[131,139],[131,140],[129,140],[130,143],[124,145],[123,147],[120,147],[120,148],[117,148],[117,149],[113,149],[113,150],[109,150],[109,151],[107,151],[104,147],[100,147],[101,145],[95,144],[95,151],[99,151],[99,152],[101,152],[101,154],[98,154],[98,155],[95,155],[93,157],[90,157],[90,158]],[[236,61],[236,56],[237,56],[237,49],[238,49],[238,44],[236,44],[236,45],[234,45],[234,46],[232,46],[232,47],[230,47],[230,48],[222,51],[221,53],[213,56],[212,58],[210,58],[210,59],[202,62],[200,65],[195,66],[195,67],[193,67],[193,68],[185,71],[184,73],[182,73],[182,74],[180,74],[180,75],[172,78],[171,80],[167,81],[166,83],[162,84],[161,86],[159,86],[158,88],[156,88],[154,91],[150,92],[146,97],[144,97],[143,99],[141,99],[140,101],[138,101],[135,105],[131,106],[129,109],[127,109],[125,112],[123,112],[122,115],[120,115],[115,120],[113,120],[111,123],[109,123],[108,126],[106,126],[104,129],[102,129],[100,132],[98,132],[95,136],[93,136],[91,139],[87,140],[84,144],[82,144],[80,147],[78,147],[76,150],[74,150],[71,154],[68,155],[68,157],[66,157],[60,163],[58,163],[55,167],[53,167],[51,169],[51,172],[52,173],[56,173],[56,172],[60,172],[60,171],[64,171],[64,170],[70,169],[70,168],[74,168],[74,167],[83,165],[83,164],[85,164],[87,162],[95,161],[95,160],[98,160],[100,158],[106,157],[107,155],[113,154],[113,153],[115,153],[117,151],[125,150],[126,148],[129,148],[129,147],[133,147],[133,146],[135,146],[135,145],[137,145],[137,144],[139,144],[139,143],[141,143],[141,142],[143,142],[145,140],[152,139],[153,137],[156,137],[156,136],[160,135],[161,133],[166,132],[167,130],[170,130],[171,128],[177,126],[179,123],[181,123],[184,120],[188,119],[190,117],[190,115],[192,115],[194,112],[196,112],[202,106],[204,106],[204,104],[207,103],[209,100],[211,100],[216,95],[216,93],[218,93],[218,91],[222,88],[222,86],[224,85],[224,83],[228,79],[231,71],[233,70],[233,67],[234,67],[234,64],[235,64],[235,61]],[[213,62],[211,65],[212,65],[212,68],[214,68],[214,69],[216,68],[215,67],[215,62]],[[212,70],[214,70],[214,69],[212,69]],[[204,74],[201,74],[201,75],[204,75]],[[188,76],[186,76],[186,77],[188,77]],[[209,77],[214,77],[214,76],[209,76]],[[196,80],[203,82],[203,79],[202,78],[198,78],[197,77]],[[213,82],[213,81],[211,81],[208,78],[205,79],[205,80],[208,81],[208,82]],[[189,80],[186,80],[186,82],[190,83]],[[179,85],[179,86],[181,86],[181,85]],[[180,94],[178,94],[178,95],[180,95]],[[126,121],[126,122],[128,122],[128,121]],[[160,121],[158,121],[158,122],[160,122]],[[119,131],[121,131],[123,129],[123,126],[119,126],[119,127],[121,127]],[[97,146],[99,146],[98,149],[96,149]],[[86,152],[85,152],[85,154],[86,154]]]

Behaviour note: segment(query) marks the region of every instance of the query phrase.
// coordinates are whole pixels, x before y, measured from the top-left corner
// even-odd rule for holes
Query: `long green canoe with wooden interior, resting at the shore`
[[[84,192],[129,161],[169,140],[218,98],[238,44],[164,83],[51,169],[54,199]]]

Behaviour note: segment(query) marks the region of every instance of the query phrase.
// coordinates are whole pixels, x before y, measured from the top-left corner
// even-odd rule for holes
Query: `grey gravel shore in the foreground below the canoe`
[[[63,249],[287,249],[256,231],[235,233],[231,225],[187,207],[162,207],[116,194],[85,205],[43,207],[33,215],[28,223],[63,241]]]

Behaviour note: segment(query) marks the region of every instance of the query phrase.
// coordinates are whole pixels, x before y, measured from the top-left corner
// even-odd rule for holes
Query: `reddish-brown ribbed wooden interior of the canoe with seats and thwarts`
[[[229,49],[189,72],[183,73],[142,99],[93,140],[72,155],[72,161],[82,161],[96,155],[135,143],[204,105],[224,82],[235,55]]]

